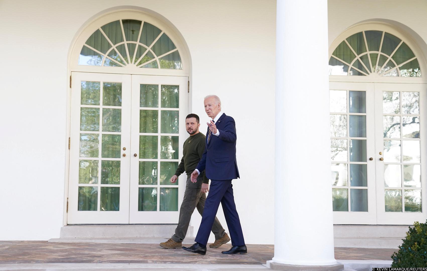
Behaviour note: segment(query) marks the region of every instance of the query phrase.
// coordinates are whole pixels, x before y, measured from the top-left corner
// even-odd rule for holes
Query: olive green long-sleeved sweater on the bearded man
[[[202,159],[202,154],[205,152],[205,143],[206,137],[202,133],[195,134],[190,136],[185,140],[184,146],[182,149],[183,157],[181,163],[179,163],[178,169],[176,169],[175,175],[179,176],[182,173],[187,172],[191,174],[195,169],[200,159]],[[206,178],[205,171],[201,172],[203,176],[203,182],[209,184],[209,179]]]

